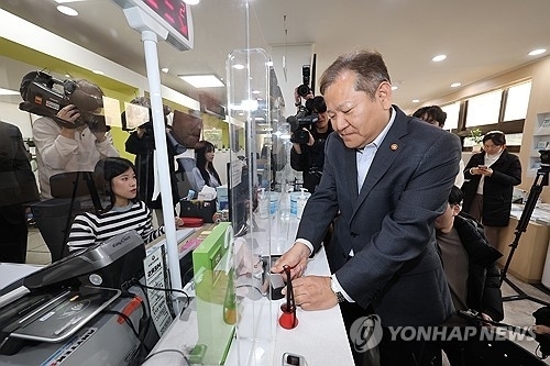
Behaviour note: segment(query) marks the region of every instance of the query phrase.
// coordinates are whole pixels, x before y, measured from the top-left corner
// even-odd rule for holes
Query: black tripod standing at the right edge
[[[548,186],[548,176],[550,173],[550,165],[543,164],[538,170],[537,170],[537,177],[535,178],[535,181],[532,182],[531,190],[529,191],[529,197],[527,198],[527,202],[525,203],[524,211],[521,212],[521,217],[519,218],[519,221],[516,226],[516,232],[514,233],[514,241],[512,242],[510,246],[510,253],[508,254],[508,258],[506,259],[506,264],[504,265],[503,269],[501,270],[501,286],[503,285],[504,281],[508,284],[514,291],[516,291],[518,295],[515,296],[508,296],[504,297],[503,301],[514,301],[514,300],[530,300],[534,302],[538,302],[543,306],[550,306],[550,303],[537,299],[530,295],[527,295],[524,290],[521,290],[516,284],[512,282],[508,278],[506,278],[506,273],[508,271],[508,267],[512,262],[512,257],[514,256],[514,253],[516,252],[516,248],[519,243],[519,237],[524,232],[527,231],[527,225],[529,224],[529,220],[531,219],[532,211],[535,210],[535,207],[537,206],[537,200],[539,199],[540,192],[542,191],[543,186]]]

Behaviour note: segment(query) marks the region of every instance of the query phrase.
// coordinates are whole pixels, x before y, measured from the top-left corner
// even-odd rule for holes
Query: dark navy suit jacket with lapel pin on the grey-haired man
[[[328,137],[321,182],[297,237],[317,249],[340,211],[327,256],[345,292],[365,309],[373,306],[386,326],[440,324],[453,308],[433,221],[447,207],[459,171],[460,141],[394,110],[396,119],[361,193],[356,152],[338,134]]]

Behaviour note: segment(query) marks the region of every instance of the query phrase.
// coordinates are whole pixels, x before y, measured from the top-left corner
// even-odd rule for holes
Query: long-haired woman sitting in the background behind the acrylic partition
[[[212,188],[221,186],[220,176],[212,164],[215,151],[216,147],[208,141],[199,141],[195,146],[195,159],[197,160],[197,165],[191,171],[191,187],[197,193],[200,192],[205,186]]]

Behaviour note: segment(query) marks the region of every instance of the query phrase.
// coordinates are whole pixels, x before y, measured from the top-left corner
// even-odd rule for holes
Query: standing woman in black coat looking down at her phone
[[[506,149],[503,132],[485,134],[483,151],[472,155],[464,178],[463,211],[483,224],[490,244],[497,247],[501,228],[509,222],[514,186],[521,182],[521,164]]]

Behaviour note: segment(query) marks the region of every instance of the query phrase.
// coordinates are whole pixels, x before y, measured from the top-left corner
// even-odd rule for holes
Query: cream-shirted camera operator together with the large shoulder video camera
[[[119,156],[102,113],[103,91],[88,80],[56,80],[42,71],[25,75],[20,109],[43,115],[33,122],[40,189],[52,198],[50,178],[67,171],[94,171],[96,163]]]

